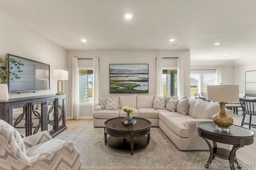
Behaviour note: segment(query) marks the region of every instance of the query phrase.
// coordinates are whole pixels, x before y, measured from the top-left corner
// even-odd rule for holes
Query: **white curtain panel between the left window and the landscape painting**
[[[99,59],[93,57],[93,81],[92,81],[92,113],[94,107],[98,105],[98,97],[100,96],[100,64]]]

